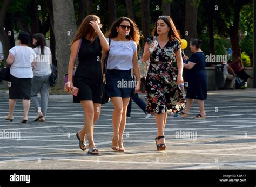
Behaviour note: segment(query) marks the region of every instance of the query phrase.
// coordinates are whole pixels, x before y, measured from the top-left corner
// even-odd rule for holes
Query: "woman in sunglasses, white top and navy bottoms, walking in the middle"
[[[126,124],[126,111],[130,97],[136,88],[140,88],[139,67],[137,63],[137,44],[139,31],[133,21],[127,17],[120,17],[112,24],[108,34],[110,41],[109,59],[106,72],[106,95],[111,98],[114,105],[112,116],[113,138],[112,149],[124,151],[123,134]],[[105,53],[102,55],[102,66]],[[102,68],[103,69],[103,68]],[[138,80],[135,84],[131,69]]]

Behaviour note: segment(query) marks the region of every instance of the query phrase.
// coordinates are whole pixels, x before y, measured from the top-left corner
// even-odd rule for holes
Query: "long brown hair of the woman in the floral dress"
[[[164,23],[166,23],[168,25],[168,27],[170,27],[170,30],[168,32],[168,37],[170,38],[171,41],[173,41],[175,38],[177,38],[181,44],[181,39],[180,39],[180,35],[179,35],[179,32],[178,30],[176,29],[176,26],[174,25],[171,17],[160,17],[157,19],[158,20],[163,20]],[[153,31],[153,35],[158,35],[157,34],[157,21],[156,21],[156,25],[155,25],[155,28],[154,28],[154,31]]]

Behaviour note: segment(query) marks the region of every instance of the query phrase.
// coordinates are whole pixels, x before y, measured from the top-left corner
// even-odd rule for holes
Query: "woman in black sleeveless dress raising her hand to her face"
[[[79,88],[78,96],[73,97],[73,102],[81,103],[83,106],[84,127],[78,131],[76,136],[82,150],[86,149],[86,136],[89,141],[89,154],[99,154],[99,150],[93,142],[93,125],[99,118],[104,88],[100,57],[102,51],[109,50],[109,43],[100,28],[102,28],[100,19],[95,15],[88,15],[79,26],[71,44],[67,82],[69,87],[74,85]],[[79,65],[73,80],[73,68],[77,53]]]

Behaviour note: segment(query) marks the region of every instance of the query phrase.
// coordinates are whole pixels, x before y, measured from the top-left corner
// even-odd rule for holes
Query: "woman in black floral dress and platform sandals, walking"
[[[154,46],[155,41],[158,42]],[[151,53],[149,48],[154,48]],[[164,128],[167,110],[177,113],[185,107],[185,97],[178,87],[183,83],[183,60],[181,58],[181,39],[170,16],[160,16],[154,35],[147,39],[144,47],[143,62],[150,59],[146,78],[146,111],[156,114],[157,150],[165,150]],[[172,67],[174,55],[177,59],[178,75]]]

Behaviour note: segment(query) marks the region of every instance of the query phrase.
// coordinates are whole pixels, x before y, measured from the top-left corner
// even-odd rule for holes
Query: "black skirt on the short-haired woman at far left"
[[[30,100],[32,78],[17,78],[10,76],[9,99]]]

